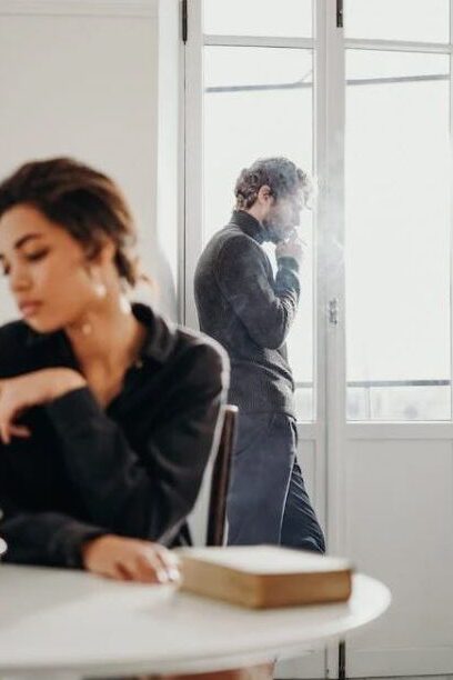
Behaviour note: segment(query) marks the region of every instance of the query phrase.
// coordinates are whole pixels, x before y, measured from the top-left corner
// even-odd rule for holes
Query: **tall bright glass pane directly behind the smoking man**
[[[311,50],[205,48],[204,241],[225,224],[235,180],[245,166],[268,156],[286,156],[312,168]],[[312,214],[302,212],[308,254],[302,299],[289,339],[301,420],[313,418]],[[271,261],[273,249],[269,251]]]

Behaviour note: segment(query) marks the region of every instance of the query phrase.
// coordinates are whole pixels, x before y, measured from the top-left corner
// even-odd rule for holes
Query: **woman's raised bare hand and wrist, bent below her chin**
[[[30,409],[53,401],[67,392],[84,387],[87,381],[68,368],[51,368],[0,379],[0,438],[10,443],[11,437],[29,437],[30,431],[16,420]]]

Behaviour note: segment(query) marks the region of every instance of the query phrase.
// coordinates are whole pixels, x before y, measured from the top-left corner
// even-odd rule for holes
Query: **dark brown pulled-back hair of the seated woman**
[[[89,258],[105,237],[113,241],[118,273],[135,286],[135,227],[120,189],[105,174],[71,158],[28,162],[0,183],[0,217],[19,204],[32,206],[66,229]]]

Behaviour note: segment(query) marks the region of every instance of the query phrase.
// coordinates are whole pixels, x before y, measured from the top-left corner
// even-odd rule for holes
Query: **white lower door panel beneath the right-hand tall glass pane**
[[[351,678],[452,672],[452,442],[431,433],[348,444],[344,552],[392,591],[385,616],[351,637]]]

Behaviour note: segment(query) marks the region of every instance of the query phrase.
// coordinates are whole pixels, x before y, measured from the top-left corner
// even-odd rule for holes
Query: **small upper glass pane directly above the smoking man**
[[[204,0],[203,30],[221,36],[312,34],[312,0]]]

